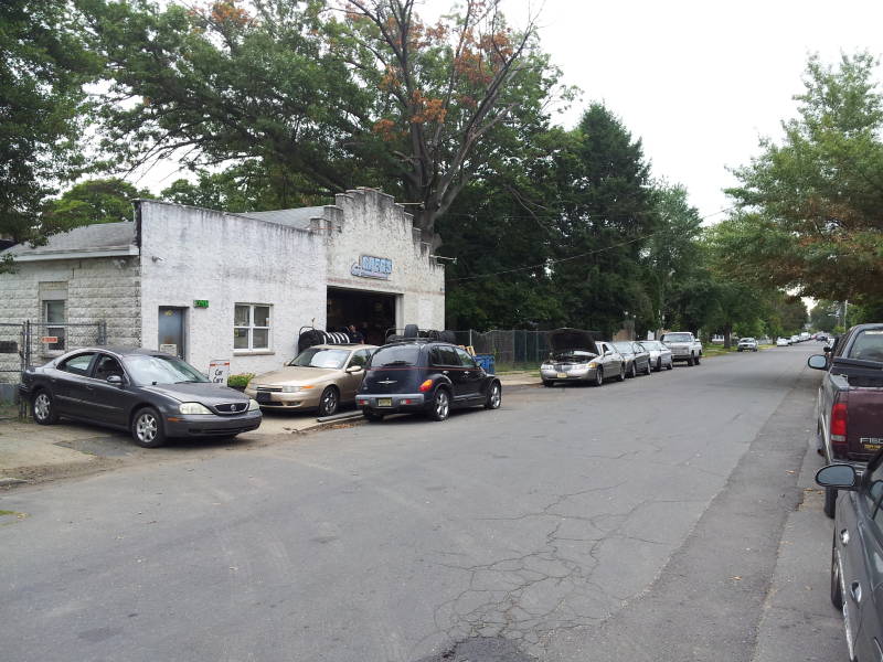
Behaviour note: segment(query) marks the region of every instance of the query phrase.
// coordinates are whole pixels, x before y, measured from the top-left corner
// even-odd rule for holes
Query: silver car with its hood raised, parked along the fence
[[[543,386],[556,382],[588,382],[595,386],[605,380],[626,378],[626,361],[613,343],[596,341],[581,329],[556,329],[546,334],[549,359],[540,366]]]

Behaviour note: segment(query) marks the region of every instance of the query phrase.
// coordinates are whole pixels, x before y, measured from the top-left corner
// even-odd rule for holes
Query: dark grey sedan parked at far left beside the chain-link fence
[[[255,401],[156,350],[76,350],[28,369],[20,388],[40,425],[61,417],[95,423],[129,430],[145,448],[170,437],[234,437],[260,425]]]

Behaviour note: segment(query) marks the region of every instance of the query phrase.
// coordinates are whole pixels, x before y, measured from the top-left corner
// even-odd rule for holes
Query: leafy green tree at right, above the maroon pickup
[[[883,99],[868,54],[812,57],[798,117],[736,170],[731,273],[829,299],[883,297]]]

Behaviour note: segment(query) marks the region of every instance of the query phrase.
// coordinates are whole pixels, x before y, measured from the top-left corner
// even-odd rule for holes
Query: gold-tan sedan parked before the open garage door
[[[246,395],[265,409],[316,410],[337,414],[354,403],[364,367],[376,345],[320,344],[307,348],[281,369],[252,377]]]

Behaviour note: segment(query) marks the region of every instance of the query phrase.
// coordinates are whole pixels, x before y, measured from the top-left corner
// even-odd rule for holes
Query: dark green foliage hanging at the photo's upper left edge
[[[0,3],[0,236],[45,239],[44,199],[82,164],[83,85],[99,58],[83,43],[79,2]]]

